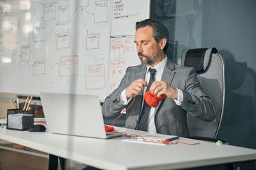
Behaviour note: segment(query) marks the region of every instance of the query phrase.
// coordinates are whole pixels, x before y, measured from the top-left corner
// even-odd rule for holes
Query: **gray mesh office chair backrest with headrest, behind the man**
[[[225,68],[223,58],[215,48],[186,49],[183,50],[178,64],[196,69],[201,87],[206,95],[212,99],[216,109],[216,118],[211,122],[200,120],[188,114],[188,131],[191,137],[215,138],[223,117],[225,101]]]

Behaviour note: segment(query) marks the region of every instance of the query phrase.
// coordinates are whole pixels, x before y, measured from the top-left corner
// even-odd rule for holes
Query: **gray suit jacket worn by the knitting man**
[[[120,94],[136,79],[144,79],[146,65],[128,67],[118,88],[105,98],[102,106],[103,115],[106,117],[119,114],[123,108]],[[166,98],[156,108],[155,125],[156,132],[166,135],[178,135],[188,137],[186,114],[191,114],[201,120],[211,121],[215,118],[213,102],[203,93],[196,77],[196,70],[190,67],[182,67],[167,60],[161,80],[174,88],[183,91],[183,103],[177,106],[173,98]],[[142,113],[143,91],[136,96],[132,106],[126,111],[126,128],[137,128],[139,115]]]

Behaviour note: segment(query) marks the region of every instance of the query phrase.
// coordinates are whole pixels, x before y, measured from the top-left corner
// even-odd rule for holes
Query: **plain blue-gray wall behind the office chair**
[[[151,17],[163,21],[171,32],[171,60],[177,62],[185,48],[218,49],[226,69],[218,138],[256,149],[256,1],[152,0],[152,4]]]

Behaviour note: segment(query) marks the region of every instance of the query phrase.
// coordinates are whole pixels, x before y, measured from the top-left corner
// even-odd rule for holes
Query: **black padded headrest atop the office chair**
[[[213,53],[218,53],[215,47],[186,49],[182,52],[180,62],[183,66],[195,68],[198,73],[205,72]]]

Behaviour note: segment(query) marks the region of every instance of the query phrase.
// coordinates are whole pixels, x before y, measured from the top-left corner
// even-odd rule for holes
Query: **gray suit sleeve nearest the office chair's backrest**
[[[190,68],[186,76],[186,90],[183,92],[181,107],[201,120],[212,121],[215,118],[213,101],[203,93],[196,77],[196,70]]]

